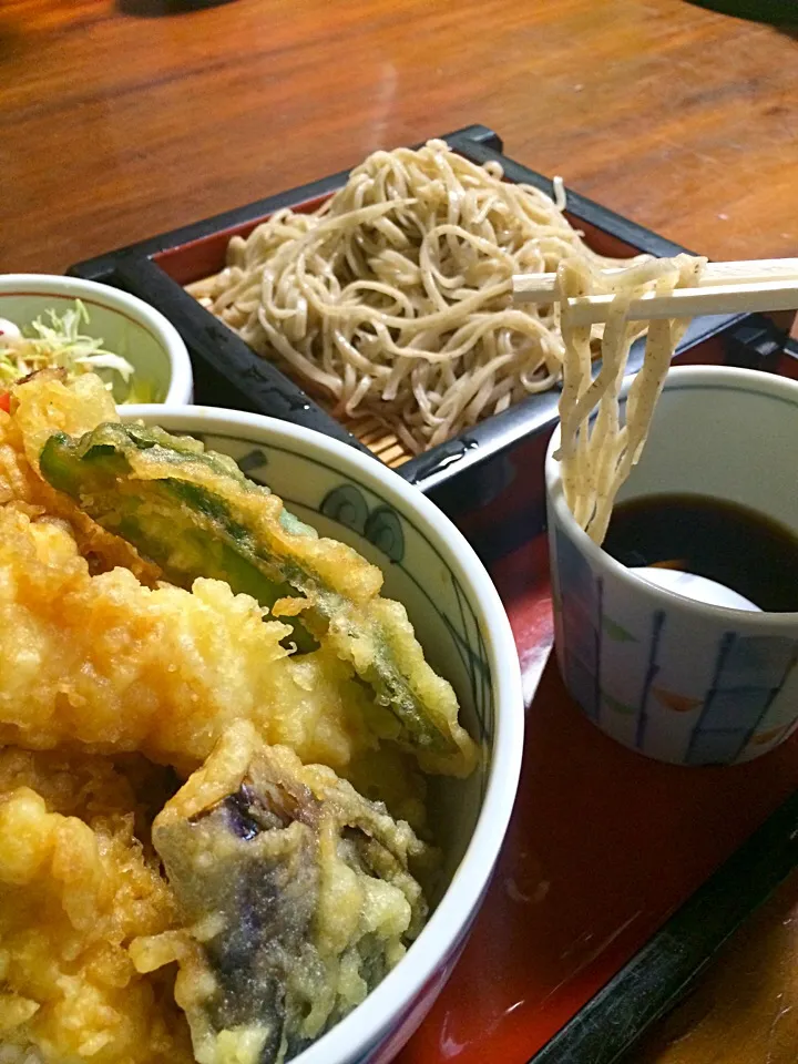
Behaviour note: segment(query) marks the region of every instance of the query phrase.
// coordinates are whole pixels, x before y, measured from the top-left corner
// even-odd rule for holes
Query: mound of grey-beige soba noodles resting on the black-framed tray
[[[560,308],[513,307],[511,278],[561,264],[616,260],[542,192],[430,141],[375,152],[320,209],[234,237],[227,268],[194,290],[334,413],[376,419],[418,453],[556,383]]]

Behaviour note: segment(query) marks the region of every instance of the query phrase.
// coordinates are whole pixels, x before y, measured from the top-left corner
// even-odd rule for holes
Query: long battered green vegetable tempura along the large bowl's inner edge
[[[25,452],[50,484],[173,583],[212,576],[262,605],[277,603],[300,649],[315,637],[371,687],[395,717],[391,737],[422,769],[469,775],[478,751],[458,722],[454,692],[424,659],[405,607],[379,595],[377,566],[319,538],[229,458],[195,440],[122,426],[100,405],[92,431],[59,430],[51,409],[69,420],[72,391],[47,377],[14,391]],[[71,420],[85,423],[88,393],[74,401],[80,413]],[[43,446],[42,426],[51,433]]]

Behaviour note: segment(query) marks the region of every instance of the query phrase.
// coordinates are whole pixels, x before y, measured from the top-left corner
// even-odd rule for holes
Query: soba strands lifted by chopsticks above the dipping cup
[[[640,331],[638,321],[626,319],[628,306],[646,291],[665,295],[674,288],[695,285],[705,263],[706,259],[692,255],[652,259],[630,266],[612,279],[585,263],[564,262],[557,270],[565,358],[560,399],[561,446],[554,457],[562,463],[565,501],[596,543],[603,542],[615,497],[643,451],[671,359],[688,324],[667,319],[647,324],[643,367],[630,387],[622,424],[618,397],[630,348]],[[569,299],[610,291],[616,296],[604,326],[601,370],[593,380],[591,327],[573,323]]]

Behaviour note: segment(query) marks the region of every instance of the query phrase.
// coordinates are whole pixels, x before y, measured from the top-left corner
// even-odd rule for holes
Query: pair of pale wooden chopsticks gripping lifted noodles
[[[624,273],[623,267],[603,272],[607,280]],[[554,274],[516,274],[513,300],[551,303],[555,298]],[[615,299],[610,293],[579,296],[569,300],[575,325],[606,320]],[[770,258],[747,263],[710,263],[695,287],[676,288],[668,295],[646,293],[630,304],[631,321],[652,318],[694,318],[710,314],[753,314],[764,310],[798,309],[798,259]]]

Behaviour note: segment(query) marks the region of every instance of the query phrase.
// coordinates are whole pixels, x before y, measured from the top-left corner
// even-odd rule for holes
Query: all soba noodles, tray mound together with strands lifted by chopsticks
[[[648,323],[622,424],[630,347],[646,328],[628,306],[693,284],[704,259],[605,258],[563,216],[561,178],[554,201],[502,178],[499,163],[478,166],[442,141],[375,152],[317,211],[278,211],[234,236],[227,267],[192,290],[334,415],[376,421],[412,453],[562,379],[565,498],[601,543],[687,324]],[[556,273],[549,305],[513,306],[524,273]],[[571,314],[569,299],[610,293],[602,325]]]

